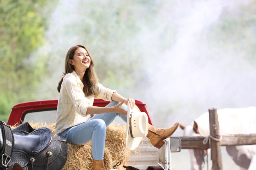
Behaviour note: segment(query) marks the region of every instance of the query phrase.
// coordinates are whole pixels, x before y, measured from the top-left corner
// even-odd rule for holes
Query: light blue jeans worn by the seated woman
[[[111,102],[106,107],[117,105],[118,102]],[[122,107],[127,110],[126,104]],[[92,158],[94,160],[102,160],[105,149],[106,127],[115,119],[121,117],[126,122],[127,115],[119,113],[102,113],[96,114],[88,121],[73,126],[61,132],[59,135],[67,140],[67,142],[75,145],[83,145],[92,140]]]

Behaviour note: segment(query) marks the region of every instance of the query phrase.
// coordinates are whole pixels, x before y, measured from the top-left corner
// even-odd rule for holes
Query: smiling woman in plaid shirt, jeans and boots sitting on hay
[[[58,92],[56,134],[75,145],[92,140],[93,170],[104,170],[106,126],[116,116],[126,121],[127,103],[130,102],[133,108],[135,100],[126,99],[117,91],[98,83],[92,57],[81,45],[67,51],[65,73],[58,84]],[[106,107],[92,106],[94,98],[111,103]],[[92,114],[94,116],[91,118]],[[178,126],[179,123],[176,123],[169,129],[157,129],[149,124],[147,137],[153,146],[161,148],[163,139],[170,137]]]

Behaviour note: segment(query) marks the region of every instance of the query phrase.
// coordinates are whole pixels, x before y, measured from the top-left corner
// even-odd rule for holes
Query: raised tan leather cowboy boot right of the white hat
[[[150,143],[155,146],[156,148],[160,149],[164,145],[164,139],[173,135],[175,130],[179,127],[180,122],[175,123],[171,128],[163,129],[163,128],[156,128],[148,124],[148,139]]]

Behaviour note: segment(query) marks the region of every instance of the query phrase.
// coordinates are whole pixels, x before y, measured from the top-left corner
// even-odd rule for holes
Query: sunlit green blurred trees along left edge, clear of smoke
[[[45,60],[29,57],[44,43],[47,1],[0,0],[0,119],[7,121],[11,107],[33,100]]]

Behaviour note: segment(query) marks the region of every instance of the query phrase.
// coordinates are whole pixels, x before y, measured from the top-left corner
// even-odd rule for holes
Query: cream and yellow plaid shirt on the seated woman
[[[61,84],[58,97],[55,132],[58,135],[67,128],[83,123],[90,118],[86,115],[88,106],[92,106],[94,98],[112,101],[111,97],[115,90],[105,88],[98,83],[99,95],[85,96],[83,83],[75,71],[66,74]]]

